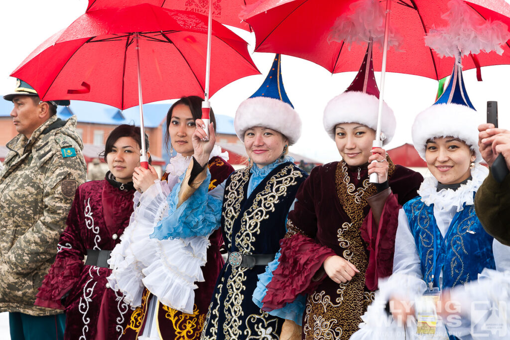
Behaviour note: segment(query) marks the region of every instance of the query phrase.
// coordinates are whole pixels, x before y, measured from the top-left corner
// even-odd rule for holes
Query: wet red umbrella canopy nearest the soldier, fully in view
[[[143,102],[203,95],[207,16],[150,4],[85,13],[50,37],[11,74],[44,100],[78,99],[121,110],[138,105],[136,33]],[[214,94],[243,76],[259,74],[247,43],[212,24]]]

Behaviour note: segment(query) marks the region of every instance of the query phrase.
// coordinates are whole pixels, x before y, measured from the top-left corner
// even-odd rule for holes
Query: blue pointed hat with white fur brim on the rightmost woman
[[[420,112],[415,118],[411,130],[414,147],[425,160],[428,140],[455,137],[463,140],[475,152],[476,162],[480,162],[482,158],[478,150],[478,125],[481,118],[468,97],[458,57],[443,94],[430,108]]]

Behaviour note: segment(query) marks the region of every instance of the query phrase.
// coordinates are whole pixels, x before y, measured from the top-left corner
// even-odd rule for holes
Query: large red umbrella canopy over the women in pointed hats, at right
[[[245,20],[257,37],[255,51],[290,55],[310,60],[332,73],[357,71],[366,44],[331,41],[331,29],[337,18],[353,11],[358,0],[267,0],[250,12]],[[474,0],[484,4],[487,1]],[[504,0],[492,0],[491,8],[510,9]],[[382,1],[386,7],[386,1]],[[389,72],[414,74],[442,79],[450,74],[454,58],[441,59],[425,45],[425,35],[435,27],[443,27],[442,15],[448,12],[448,1],[399,0],[391,9],[391,27],[400,40],[390,48],[387,59]],[[503,13],[505,12],[503,11]],[[384,23],[384,22],[383,22]],[[382,48],[373,50],[374,69],[381,70]],[[480,66],[510,64],[510,45],[502,46],[502,56],[480,53]],[[476,67],[471,56],[462,60],[464,69]]]

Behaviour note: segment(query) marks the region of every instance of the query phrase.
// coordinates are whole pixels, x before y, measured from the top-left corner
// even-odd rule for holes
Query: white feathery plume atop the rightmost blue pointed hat
[[[449,11],[441,17],[448,21],[447,27],[431,29],[425,36],[425,45],[442,58],[478,54],[480,51],[496,51],[501,55],[504,44],[510,39],[508,27],[501,21],[484,20],[462,0],[451,0]]]

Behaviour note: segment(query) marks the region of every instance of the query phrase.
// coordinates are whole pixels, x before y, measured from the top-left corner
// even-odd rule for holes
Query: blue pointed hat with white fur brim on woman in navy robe
[[[297,142],[301,136],[301,119],[285,92],[282,81],[280,55],[273,60],[271,70],[262,86],[244,100],[236,111],[234,128],[237,137],[244,142],[244,133],[255,126],[269,127]]]

